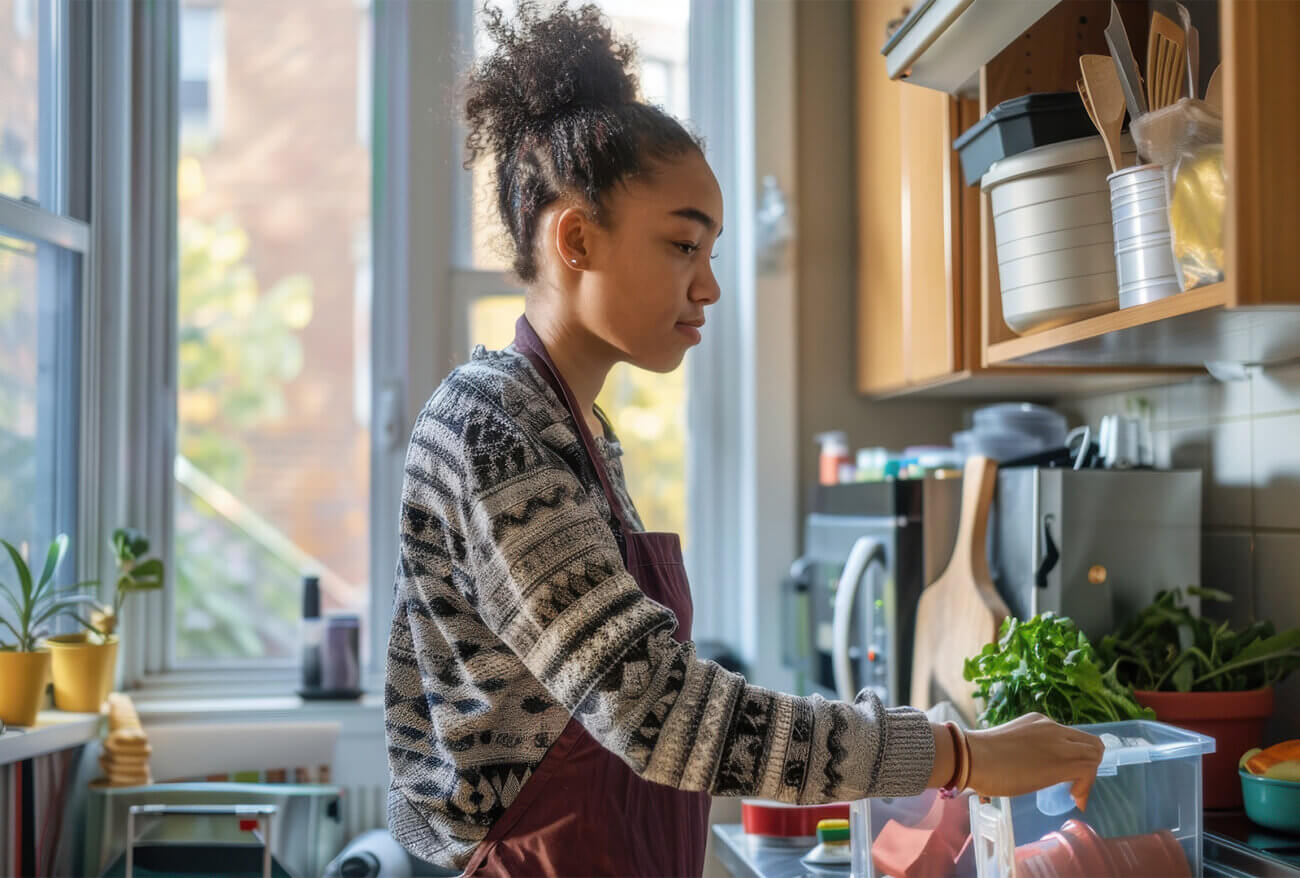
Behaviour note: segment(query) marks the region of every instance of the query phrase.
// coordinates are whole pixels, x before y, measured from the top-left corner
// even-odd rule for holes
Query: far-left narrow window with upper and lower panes
[[[68,16],[57,0],[0,0],[0,537],[31,565],[58,533],[79,549],[91,505],[78,477],[90,234],[69,216],[84,181],[72,178],[68,135],[86,70]]]

